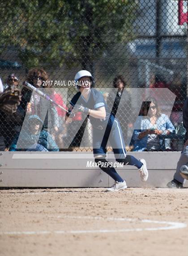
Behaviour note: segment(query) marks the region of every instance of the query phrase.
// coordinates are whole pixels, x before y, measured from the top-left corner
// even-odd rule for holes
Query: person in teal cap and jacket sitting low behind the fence
[[[42,130],[41,130],[42,129]],[[40,135],[39,135],[40,133]],[[38,138],[39,135],[39,138]],[[52,136],[43,128],[43,122],[37,115],[28,118],[27,128],[13,139],[9,151],[59,151]],[[18,138],[24,149],[17,148]]]

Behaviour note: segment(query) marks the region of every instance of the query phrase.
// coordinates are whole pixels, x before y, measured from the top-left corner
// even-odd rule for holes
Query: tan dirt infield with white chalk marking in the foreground
[[[188,255],[188,189],[104,191],[1,190],[0,256]]]

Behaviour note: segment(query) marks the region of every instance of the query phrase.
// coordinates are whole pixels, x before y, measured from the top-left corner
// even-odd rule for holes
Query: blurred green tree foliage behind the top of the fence
[[[0,45],[16,46],[27,68],[84,66],[132,38],[136,8],[135,0],[4,0]]]

